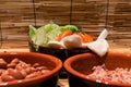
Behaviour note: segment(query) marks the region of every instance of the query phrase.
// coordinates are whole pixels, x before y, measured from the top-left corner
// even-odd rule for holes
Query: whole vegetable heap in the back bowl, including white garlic
[[[96,40],[86,33],[81,32],[75,25],[59,26],[55,23],[46,24],[39,28],[29,25],[29,39],[39,46],[56,49],[88,48],[103,57],[109,49],[106,40],[108,30],[104,29]]]

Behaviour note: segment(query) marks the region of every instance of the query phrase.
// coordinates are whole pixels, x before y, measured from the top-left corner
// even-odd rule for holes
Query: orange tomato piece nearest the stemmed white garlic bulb
[[[83,44],[93,41],[93,37],[85,33],[76,33],[76,35],[81,37]]]

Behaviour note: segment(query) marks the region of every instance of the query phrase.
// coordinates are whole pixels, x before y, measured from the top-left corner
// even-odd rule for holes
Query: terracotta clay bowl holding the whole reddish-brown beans
[[[32,78],[17,79],[8,83],[0,83],[0,87],[56,87],[58,80],[58,72],[62,67],[62,62],[56,57],[35,53],[35,52],[1,52],[0,58],[8,63],[17,58],[28,64],[39,63],[50,72]]]

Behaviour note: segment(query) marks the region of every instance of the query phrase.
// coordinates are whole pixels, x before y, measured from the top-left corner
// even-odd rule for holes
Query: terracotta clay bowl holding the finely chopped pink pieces
[[[64,69],[70,73],[70,87],[131,87],[131,84],[119,82],[100,80],[87,77],[93,73],[93,66],[102,65],[105,62],[107,70],[117,67],[131,67],[131,53],[109,51],[105,57],[99,58],[94,53],[82,53],[70,57],[63,63]]]

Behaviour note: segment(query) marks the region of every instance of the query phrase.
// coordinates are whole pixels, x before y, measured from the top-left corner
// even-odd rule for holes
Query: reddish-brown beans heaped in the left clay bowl
[[[47,72],[50,70],[39,63],[28,64],[17,58],[8,63],[0,58],[0,83],[32,78]]]

